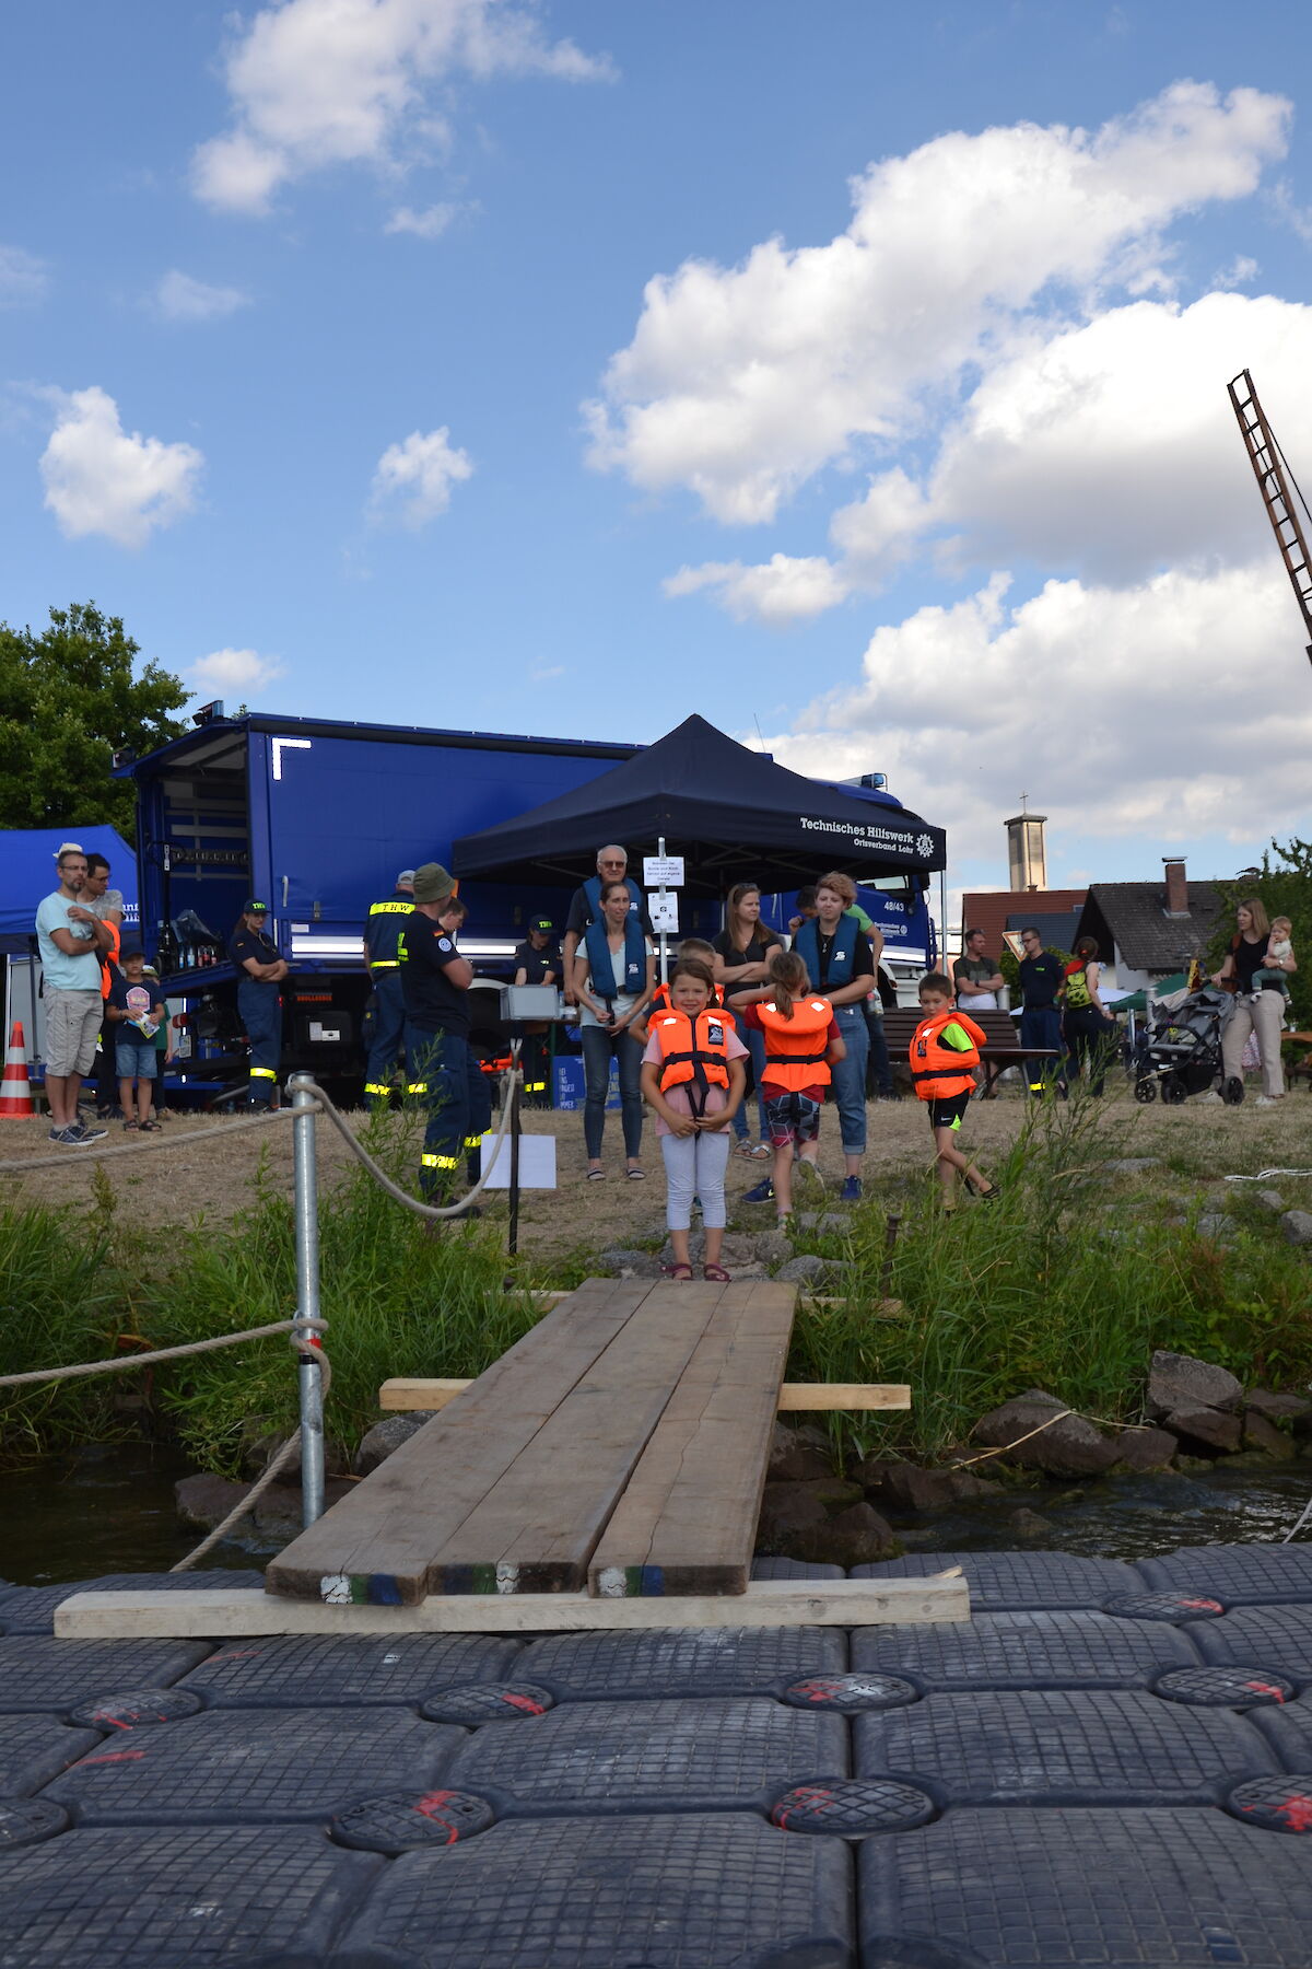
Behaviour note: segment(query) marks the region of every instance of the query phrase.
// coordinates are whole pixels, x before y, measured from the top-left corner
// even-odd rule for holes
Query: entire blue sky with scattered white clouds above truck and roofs
[[[1312,833],[1306,10],[6,10],[0,614],[228,705],[885,770],[1005,880]]]

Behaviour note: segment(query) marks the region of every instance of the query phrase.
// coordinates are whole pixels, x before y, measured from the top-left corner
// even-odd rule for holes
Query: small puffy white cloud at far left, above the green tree
[[[191,512],[205,465],[195,445],[124,431],[118,404],[94,386],[51,396],[59,412],[41,478],[61,534],[104,534],[120,547],[142,547],[153,528]]]

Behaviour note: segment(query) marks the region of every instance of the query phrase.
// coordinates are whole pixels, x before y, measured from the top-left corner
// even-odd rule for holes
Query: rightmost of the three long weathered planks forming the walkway
[[[795,1305],[793,1286],[726,1286],[592,1554],[592,1593],[745,1593]]]

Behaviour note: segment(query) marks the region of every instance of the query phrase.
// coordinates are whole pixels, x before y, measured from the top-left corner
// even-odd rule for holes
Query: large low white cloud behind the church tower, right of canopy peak
[[[1306,827],[1312,701],[1275,549],[1259,569],[1129,589],[1048,581],[1015,608],[1009,579],[879,628],[862,681],[767,748],[830,780],[887,772],[899,799],[950,829],[956,858],[982,841],[991,855],[1019,786],[1050,839]]]

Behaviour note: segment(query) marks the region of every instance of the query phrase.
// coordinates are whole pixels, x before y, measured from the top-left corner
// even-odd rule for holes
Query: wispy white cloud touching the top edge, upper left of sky
[[[423,154],[443,134],[431,95],[452,75],[594,81],[610,65],[545,39],[513,0],[281,0],[228,49],[234,126],[195,152],[197,195],[266,213],[279,185],[325,165]]]

